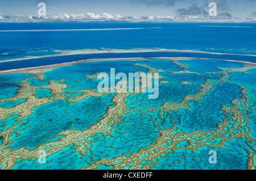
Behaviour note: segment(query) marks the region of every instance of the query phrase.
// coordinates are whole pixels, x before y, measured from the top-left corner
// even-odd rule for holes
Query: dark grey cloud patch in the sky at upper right
[[[188,9],[185,9],[185,8],[176,9],[176,13],[177,15],[181,15],[181,16],[208,15],[207,11],[205,11],[202,7],[197,6],[197,4],[193,4],[189,6]]]

